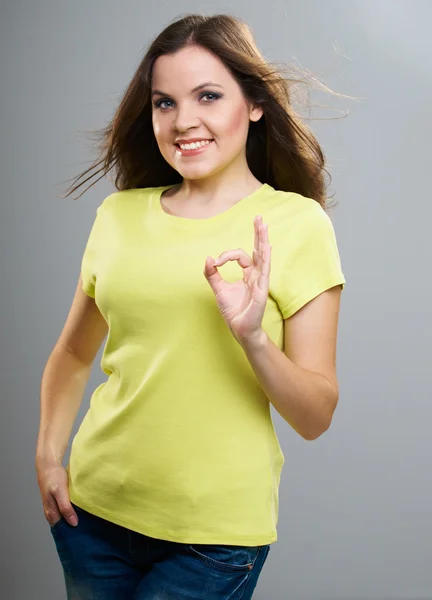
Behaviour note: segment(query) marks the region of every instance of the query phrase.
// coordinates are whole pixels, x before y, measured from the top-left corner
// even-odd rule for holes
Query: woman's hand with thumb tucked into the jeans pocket
[[[53,527],[63,517],[70,525],[78,524],[78,516],[69,499],[68,474],[57,463],[39,464],[37,478],[45,519]]]

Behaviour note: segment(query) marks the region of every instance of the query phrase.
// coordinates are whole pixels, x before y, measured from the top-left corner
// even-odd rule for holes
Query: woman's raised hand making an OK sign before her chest
[[[248,342],[262,334],[262,319],[268,299],[271,246],[268,225],[261,216],[254,219],[254,251],[251,258],[244,250],[227,250],[214,261],[208,256],[204,275],[216,296],[219,310],[238,342]],[[243,279],[229,283],[217,267],[236,260],[243,269]]]

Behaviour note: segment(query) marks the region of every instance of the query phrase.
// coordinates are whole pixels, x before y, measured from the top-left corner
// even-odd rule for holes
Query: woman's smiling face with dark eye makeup
[[[206,85],[194,90],[202,84]],[[244,167],[249,123],[258,121],[262,110],[248,105],[216,56],[198,46],[159,56],[153,66],[152,92],[157,144],[184,179],[208,177],[236,162]],[[212,141],[188,152],[179,148],[180,139]]]

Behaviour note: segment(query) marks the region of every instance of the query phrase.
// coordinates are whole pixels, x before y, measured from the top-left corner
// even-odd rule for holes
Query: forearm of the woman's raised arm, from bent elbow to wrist
[[[338,392],[327,379],[293,363],[264,331],[240,344],[267,398],[297,433],[312,440],[328,429]]]

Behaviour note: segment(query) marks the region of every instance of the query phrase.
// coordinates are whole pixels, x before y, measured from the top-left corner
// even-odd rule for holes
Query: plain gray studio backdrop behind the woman
[[[430,481],[432,3],[3,0],[0,8],[0,597],[65,598],[34,469],[40,378],[64,324],[96,206],[63,182],[90,165],[150,41],[187,12],[244,18],[264,54],[337,91],[317,104],[347,286],[340,400],[306,442],[274,412],[286,457],[279,541],[256,598],[432,597]],[[338,116],[317,108],[316,118]],[[74,431],[105,378],[98,356]]]

